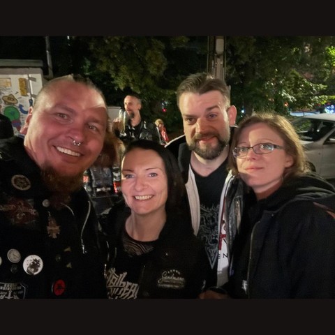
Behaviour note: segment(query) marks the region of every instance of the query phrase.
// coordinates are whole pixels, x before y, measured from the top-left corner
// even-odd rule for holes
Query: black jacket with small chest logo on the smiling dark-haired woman
[[[107,268],[113,267],[117,253],[123,248],[121,233],[130,215],[131,209],[121,199],[102,223],[111,251]],[[206,285],[208,267],[204,246],[193,234],[191,224],[186,224],[183,216],[168,213],[154,250],[142,268],[137,298],[197,298]],[[179,282],[184,278],[184,287],[160,287],[161,278],[169,273],[178,273]]]

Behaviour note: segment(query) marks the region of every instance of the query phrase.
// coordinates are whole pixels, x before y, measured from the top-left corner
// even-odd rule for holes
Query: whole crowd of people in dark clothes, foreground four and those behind
[[[177,106],[184,135],[169,140],[136,94],[110,120],[91,80],[44,85],[0,140],[1,299],[335,298],[335,187],[292,124],[236,124],[209,73],[179,84]],[[96,203],[113,173],[117,197]]]

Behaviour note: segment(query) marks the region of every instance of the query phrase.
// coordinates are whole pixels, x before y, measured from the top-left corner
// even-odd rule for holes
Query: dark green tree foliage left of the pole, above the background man
[[[206,37],[73,37],[74,72],[94,78],[109,105],[123,106],[124,96],[135,92],[142,98],[143,117],[152,121],[159,117],[174,131],[181,126],[177,85],[188,74],[206,70],[206,44],[198,39],[205,42]],[[163,102],[168,106],[164,114]]]

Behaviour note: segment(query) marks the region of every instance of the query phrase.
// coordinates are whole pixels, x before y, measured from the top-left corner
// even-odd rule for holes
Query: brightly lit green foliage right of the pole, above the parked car
[[[332,36],[233,36],[226,38],[232,103],[246,114],[288,107],[313,108],[334,82]]]

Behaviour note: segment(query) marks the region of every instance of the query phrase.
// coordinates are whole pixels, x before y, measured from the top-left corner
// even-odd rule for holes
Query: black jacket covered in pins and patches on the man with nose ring
[[[0,140],[0,299],[107,298],[107,248],[86,191],[61,209],[50,195],[23,139]]]

